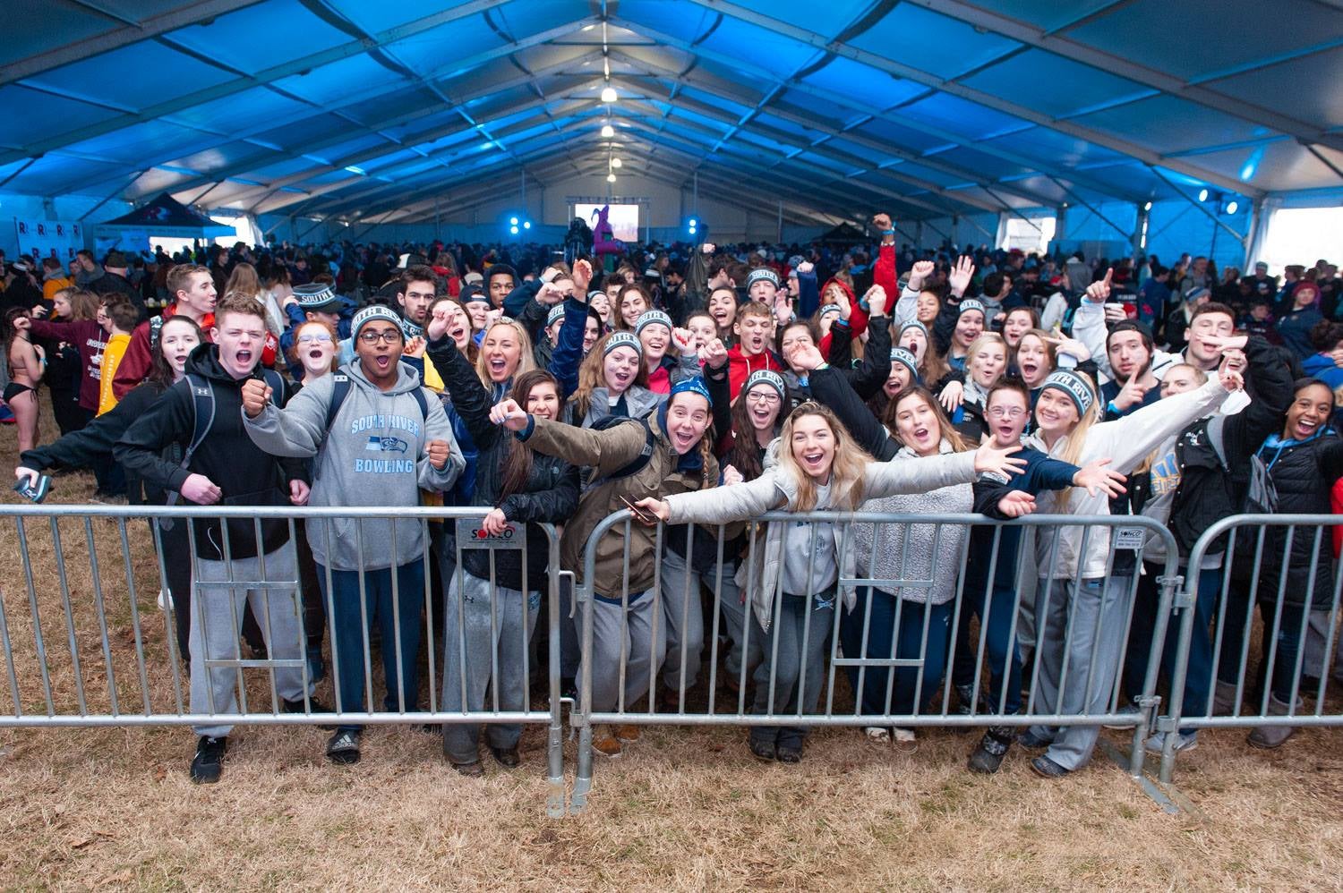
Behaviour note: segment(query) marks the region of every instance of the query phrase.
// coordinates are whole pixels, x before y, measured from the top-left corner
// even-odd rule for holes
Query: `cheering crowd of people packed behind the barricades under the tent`
[[[813,713],[838,624],[845,657],[878,662],[849,667],[861,716],[919,713],[950,688],[988,724],[971,771],[995,772],[1019,743],[1041,751],[1037,773],[1068,775],[1097,726],[1018,735],[992,717],[1026,709],[1023,685],[1041,716],[1104,714],[1116,689],[1138,709],[1164,628],[1163,540],[1135,559],[1081,520],[1034,549],[1011,526],[755,520],[1135,514],[1170,528],[1183,568],[1222,517],[1327,514],[1343,475],[1336,267],[1288,267],[1280,282],[1264,265],[1218,275],[1203,256],[928,251],[897,246],[886,215],[872,226],[872,244],[845,248],[630,246],[610,270],[582,251],[443,243],[111,251],[101,266],[81,252],[40,273],[23,256],[0,291],[16,478],[89,469],[102,501],[351,509],[293,528],[282,510],[158,524],[192,713],[236,710],[236,674],[212,662],[238,659],[242,641],[286,662],[275,688],[298,713],[329,712],[314,700],[328,662],[336,709],[365,710],[372,642],[383,709],[414,712],[426,623],[442,637],[443,710],[520,710],[563,569],[592,594],[591,649],[568,619],[561,630],[565,688],[586,670],[591,712],[651,690],[654,709],[686,709],[706,675],[708,612],[721,615],[720,678],[743,697],[753,688],[753,714]],[[48,442],[42,385],[60,431]],[[426,540],[416,520],[359,518],[422,504],[478,508],[485,533],[521,530],[528,549],[492,557],[458,551],[441,525]],[[584,579],[584,549],[620,509],[639,524],[607,529]],[[543,524],[563,528],[559,567]],[[1327,653],[1335,556],[1270,532],[1253,569],[1223,575],[1222,559],[1182,569],[1199,577],[1185,714],[1238,710],[1242,694],[1293,712],[1303,677],[1343,669]],[[843,583],[855,577],[874,584]],[[239,579],[259,588],[227,583]],[[278,583],[294,579],[297,592]],[[1252,592],[1265,657],[1246,679]],[[329,759],[357,761],[361,731],[330,729]],[[230,728],[195,732],[191,776],[218,780]],[[463,775],[483,773],[481,733],[443,726]],[[916,741],[908,728],[865,733]],[[1250,743],[1291,733],[1284,721]],[[483,735],[496,761],[518,764],[517,725]],[[748,747],[796,763],[806,735],[756,725]],[[1176,731],[1147,747],[1166,735],[1197,745]],[[618,756],[638,728],[594,739]]]

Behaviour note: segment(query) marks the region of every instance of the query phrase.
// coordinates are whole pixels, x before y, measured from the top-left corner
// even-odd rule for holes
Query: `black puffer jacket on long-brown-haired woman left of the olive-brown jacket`
[[[516,442],[510,432],[490,422],[494,399],[475,368],[462,356],[451,338],[428,345],[428,357],[443,377],[453,396],[453,408],[466,424],[475,443],[475,490],[471,505],[498,508],[509,521],[526,524],[526,587],[545,585],[548,541],[540,524],[564,524],[579,505],[579,470],[563,459],[532,453],[532,470],[522,489],[509,496],[504,491],[504,467]],[[524,447],[525,449],[525,447]],[[490,551],[473,549],[462,543],[462,567],[474,577],[490,579]],[[522,590],[522,561],[518,552],[494,552],[494,579],[500,585]]]

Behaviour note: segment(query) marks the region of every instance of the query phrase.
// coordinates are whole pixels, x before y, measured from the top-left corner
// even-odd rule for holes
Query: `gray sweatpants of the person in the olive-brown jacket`
[[[592,661],[592,704],[590,712],[608,713],[620,705],[620,651],[624,651],[624,701],[623,708],[649,693],[649,679],[662,666],[666,657],[666,624],[657,618],[658,635],[653,641],[654,626],[653,591],[631,592],[629,610],[619,602],[594,598],[588,608],[592,611],[592,653],[583,655],[583,662]],[[651,657],[650,657],[651,653]],[[579,665],[579,678],[584,671]]]

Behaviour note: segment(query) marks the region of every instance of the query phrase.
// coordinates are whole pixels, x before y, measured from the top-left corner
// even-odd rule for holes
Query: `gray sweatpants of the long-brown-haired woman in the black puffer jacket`
[[[465,583],[463,583],[465,581]],[[465,592],[465,598],[463,598]],[[522,710],[526,706],[528,679],[522,673],[522,655],[536,628],[541,611],[541,594],[524,595],[517,590],[496,585],[493,616],[490,611],[490,583],[462,572],[453,575],[443,603],[446,615],[443,630],[443,712],[462,709],[462,688],[466,688],[466,709],[494,709],[494,698],[486,708],[485,689],[493,678],[498,709]],[[525,622],[525,627],[524,627]],[[465,630],[465,637],[463,637]],[[466,653],[462,654],[462,641]],[[463,661],[465,657],[465,661]],[[494,665],[498,662],[498,675]],[[465,663],[465,675],[462,673]],[[492,722],[485,728],[490,747],[510,749],[517,747],[522,726]],[[453,763],[475,763],[479,759],[481,726],[478,724],[447,722],[443,725],[443,751]]]

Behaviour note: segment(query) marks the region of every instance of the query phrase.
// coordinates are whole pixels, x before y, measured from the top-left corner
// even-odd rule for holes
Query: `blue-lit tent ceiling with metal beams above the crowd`
[[[0,137],[0,188],[28,195],[414,220],[520,171],[600,175],[612,150],[626,175],[698,176],[811,222],[1343,181],[1343,11],[1326,0],[834,0],[815,31],[792,24],[814,12],[800,0],[43,12],[0,48],[0,110],[56,110]],[[1151,39],[1189,20],[1223,51]],[[302,55],[252,68],[246,35],[286,32]]]

